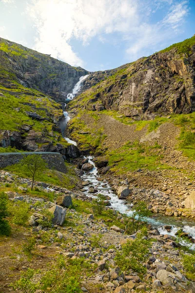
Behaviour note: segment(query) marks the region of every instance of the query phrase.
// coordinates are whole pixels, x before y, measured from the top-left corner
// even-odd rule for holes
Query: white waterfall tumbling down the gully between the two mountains
[[[79,81],[77,84],[75,84],[74,88],[73,88],[73,92],[72,93],[69,93],[67,95],[67,100],[73,100],[75,98],[75,95],[78,94],[78,92],[80,91],[81,87],[82,87],[82,83],[83,81],[89,76],[89,74],[87,75],[84,75],[84,76],[81,76],[79,78]],[[65,104],[65,107],[66,107],[66,104]],[[67,111],[64,111],[64,117],[65,117],[65,121],[64,121],[64,130],[66,129],[66,126],[67,126],[67,123],[68,121],[70,120],[70,117],[68,115],[68,112]],[[64,132],[63,130],[63,132]],[[64,137],[64,139],[69,143],[69,144],[72,144],[74,146],[77,146],[77,143],[74,142],[73,140],[69,139],[68,137]]]

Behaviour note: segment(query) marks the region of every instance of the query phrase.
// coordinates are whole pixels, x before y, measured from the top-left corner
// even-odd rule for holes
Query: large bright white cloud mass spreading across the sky
[[[167,15],[153,21],[162,8]],[[98,37],[103,43],[115,33],[118,42],[129,43],[126,53],[136,59],[144,48],[147,52],[173,36],[173,30],[178,33],[188,10],[187,0],[29,0],[26,13],[37,29],[34,49],[83,66],[71,45],[74,39],[88,45]]]

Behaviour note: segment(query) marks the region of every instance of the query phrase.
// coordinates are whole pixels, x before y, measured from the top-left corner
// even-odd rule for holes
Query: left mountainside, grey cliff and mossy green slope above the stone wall
[[[78,149],[62,138],[59,125],[64,116],[57,102],[65,101],[86,73],[80,67],[0,39],[1,151],[15,147],[76,157]]]

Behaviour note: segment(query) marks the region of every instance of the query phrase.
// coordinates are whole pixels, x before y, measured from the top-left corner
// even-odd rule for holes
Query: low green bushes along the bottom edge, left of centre
[[[65,259],[60,255],[55,264],[48,264],[48,269],[40,271],[28,269],[24,272],[20,280],[12,284],[14,290],[20,290],[22,293],[35,293],[41,290],[44,293],[81,293],[80,277],[83,272],[91,271],[90,264],[84,258]]]

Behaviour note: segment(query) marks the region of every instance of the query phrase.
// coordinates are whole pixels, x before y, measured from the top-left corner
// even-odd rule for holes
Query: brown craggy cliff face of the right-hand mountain
[[[84,88],[96,83],[82,96],[90,98],[88,109],[101,103],[133,120],[195,111],[195,36],[117,70],[94,73]]]

